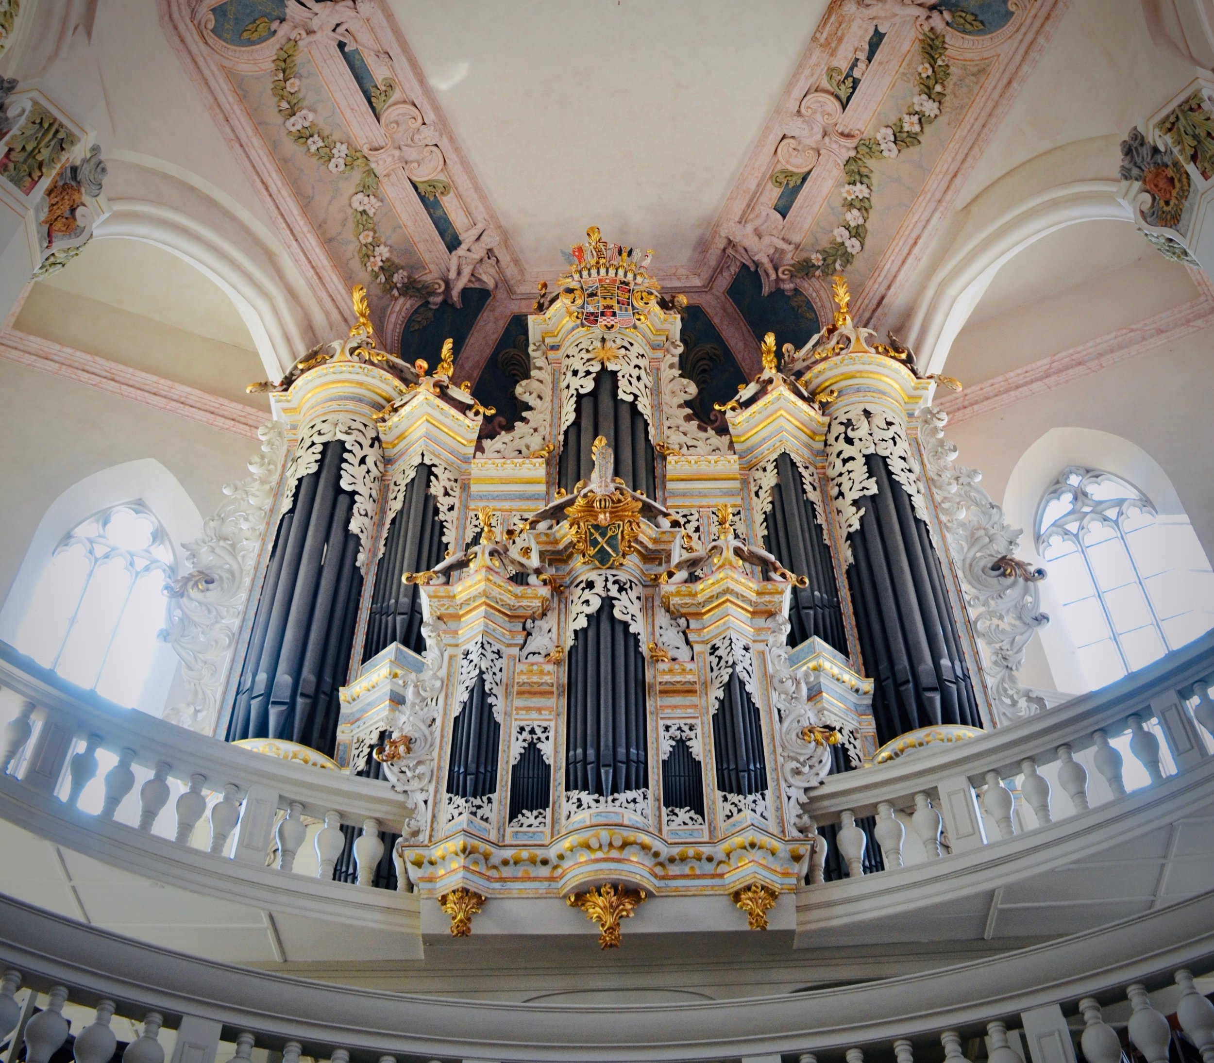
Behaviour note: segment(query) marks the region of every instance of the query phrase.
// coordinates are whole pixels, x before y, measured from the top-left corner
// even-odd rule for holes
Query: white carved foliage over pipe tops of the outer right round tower
[[[923,484],[902,419],[880,407],[857,405],[832,417],[827,431],[827,477],[844,536],[860,528],[860,518],[864,516],[856,501],[877,494],[877,481],[864,464],[867,454],[885,459],[890,476],[909,496],[915,516],[929,523]],[[844,555],[851,564],[850,542],[845,542]]]

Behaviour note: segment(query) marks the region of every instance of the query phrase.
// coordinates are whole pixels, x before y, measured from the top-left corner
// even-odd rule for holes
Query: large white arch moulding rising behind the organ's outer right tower
[[[999,269],[1042,237],[1085,221],[1133,223],[1116,181],[1048,188],[999,215],[959,244],[932,274],[910,319],[909,343],[925,373],[941,373],[948,352]]]

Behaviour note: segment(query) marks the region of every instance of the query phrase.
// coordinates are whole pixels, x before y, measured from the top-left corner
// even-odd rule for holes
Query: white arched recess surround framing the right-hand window
[[[1067,466],[1101,470],[1121,477],[1150,499],[1162,518],[1174,522],[1189,517],[1172,479],[1146,450],[1136,443],[1096,428],[1057,427],[1043,433],[1020,456],[1004,491],[1004,512],[1008,523],[1025,529],[1021,548],[1032,564],[1046,562],[1037,548],[1038,507],[1043,495]],[[1046,578],[1042,586],[1042,604],[1054,623],[1042,629],[1042,648],[1060,690],[1080,693],[1088,689],[1076,660],[1076,646],[1061,623],[1062,609],[1055,590]]]

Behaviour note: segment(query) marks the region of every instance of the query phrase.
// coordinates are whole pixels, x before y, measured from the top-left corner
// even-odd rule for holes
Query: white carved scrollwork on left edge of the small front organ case
[[[443,653],[438,630],[427,620],[421,625],[421,633],[426,639],[425,667],[405,678],[404,704],[396,707],[392,720],[392,737],[407,738],[409,751],[384,764],[392,789],[404,796],[401,837],[407,843],[426,834],[438,746],[438,699],[443,693]]]

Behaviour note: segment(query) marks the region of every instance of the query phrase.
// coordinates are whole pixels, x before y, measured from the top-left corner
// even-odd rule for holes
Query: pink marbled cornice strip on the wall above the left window
[[[16,329],[0,331],[0,358],[251,439],[266,421],[265,411],[243,403]]]

